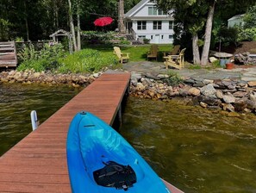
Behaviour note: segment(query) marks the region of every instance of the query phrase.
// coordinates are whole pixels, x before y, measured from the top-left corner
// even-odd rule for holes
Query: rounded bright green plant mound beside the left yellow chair
[[[59,59],[59,72],[98,72],[103,67],[116,64],[113,53],[101,53],[94,49],[84,49]]]

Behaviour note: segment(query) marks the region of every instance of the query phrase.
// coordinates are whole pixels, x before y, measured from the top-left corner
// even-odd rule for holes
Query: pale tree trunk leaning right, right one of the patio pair
[[[212,29],[214,13],[215,13],[215,2],[213,3],[213,5],[211,7],[209,7],[209,13],[207,16],[201,65],[207,65],[207,62],[208,62],[211,29]]]

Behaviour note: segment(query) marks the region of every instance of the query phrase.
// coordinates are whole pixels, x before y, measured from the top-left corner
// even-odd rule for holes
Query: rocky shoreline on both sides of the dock
[[[53,72],[0,72],[0,83],[69,84],[86,87],[103,72],[94,74],[60,74]],[[131,72],[129,95],[153,100],[168,101],[182,98],[185,104],[199,105],[205,109],[256,114],[256,81],[233,79],[187,78],[177,86],[166,84],[165,74],[157,78],[142,72]]]

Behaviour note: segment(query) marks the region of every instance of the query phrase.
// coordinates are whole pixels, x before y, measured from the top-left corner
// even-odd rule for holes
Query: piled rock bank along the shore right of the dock
[[[168,76],[159,74],[157,78],[153,78],[133,72],[130,94],[158,100],[183,97],[186,98],[186,103],[201,105],[203,108],[256,112],[256,81],[188,78],[183,84],[170,86],[165,83],[165,78]]]

